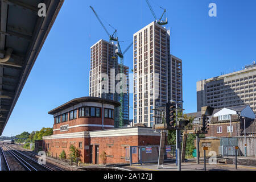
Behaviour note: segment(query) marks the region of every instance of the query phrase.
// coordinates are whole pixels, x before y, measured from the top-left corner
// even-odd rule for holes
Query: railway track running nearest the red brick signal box
[[[15,148],[10,146],[4,146],[5,151],[9,152],[15,158],[21,166],[26,171],[53,171],[55,169],[48,167],[44,164],[38,163],[37,160],[31,158],[30,156],[23,154],[23,152],[20,152],[18,150],[15,150]],[[4,154],[4,152],[3,152]]]

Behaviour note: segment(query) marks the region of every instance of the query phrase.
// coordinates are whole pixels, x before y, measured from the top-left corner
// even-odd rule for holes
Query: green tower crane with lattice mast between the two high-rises
[[[119,42],[117,41],[117,47],[115,54],[120,57],[120,73],[123,73],[123,55],[133,46],[133,42],[122,52]],[[121,78],[121,93],[119,94],[119,102],[121,106],[119,107],[119,127],[123,126],[123,78]]]

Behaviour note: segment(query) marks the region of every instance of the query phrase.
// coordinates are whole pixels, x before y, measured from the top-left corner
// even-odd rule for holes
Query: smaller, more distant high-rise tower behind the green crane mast
[[[118,57],[115,55],[117,46],[106,40],[99,40],[90,47],[90,97],[101,97],[119,101],[120,95],[115,87],[118,83],[116,76],[120,72]],[[123,73],[127,78],[127,92],[123,91],[122,117],[123,125],[129,125],[129,67],[123,66]],[[119,107],[114,110],[114,126],[119,127]]]

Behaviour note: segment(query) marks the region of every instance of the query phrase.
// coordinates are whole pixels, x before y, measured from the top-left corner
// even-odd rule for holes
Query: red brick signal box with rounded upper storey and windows
[[[82,163],[129,163],[130,146],[154,146],[160,133],[150,127],[114,128],[113,111],[119,102],[98,97],[75,98],[48,112],[54,117],[53,135],[43,137],[44,151],[58,158],[67,157],[69,146],[81,152]],[[106,153],[106,158],[100,155]],[[138,154],[137,154],[138,155]],[[133,162],[138,157],[133,154]]]

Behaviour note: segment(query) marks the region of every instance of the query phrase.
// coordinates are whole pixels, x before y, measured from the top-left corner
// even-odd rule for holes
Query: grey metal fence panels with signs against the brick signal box
[[[175,146],[166,146],[166,151],[171,155],[175,156]],[[130,159],[130,166],[132,164],[143,164],[143,163],[156,163],[159,157],[159,146],[131,146],[130,155],[126,159]],[[164,160],[168,160],[167,152],[164,154]]]

